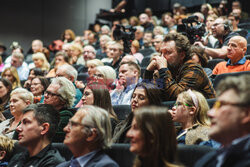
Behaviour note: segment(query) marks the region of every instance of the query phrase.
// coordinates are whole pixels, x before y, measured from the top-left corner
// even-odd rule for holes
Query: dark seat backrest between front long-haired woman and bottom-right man
[[[215,151],[215,149],[199,145],[178,145],[177,158],[186,167],[192,167],[201,157],[210,151]]]

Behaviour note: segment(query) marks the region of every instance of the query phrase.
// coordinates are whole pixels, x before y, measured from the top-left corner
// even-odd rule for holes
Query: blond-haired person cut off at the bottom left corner
[[[7,167],[10,158],[12,157],[15,141],[6,137],[0,136],[0,166]]]

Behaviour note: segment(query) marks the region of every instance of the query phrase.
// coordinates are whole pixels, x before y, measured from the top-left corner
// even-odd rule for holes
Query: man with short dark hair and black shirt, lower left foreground
[[[18,143],[27,150],[15,154],[8,166],[56,166],[64,162],[51,145],[60,121],[59,113],[48,104],[32,104],[23,110],[17,127]]]

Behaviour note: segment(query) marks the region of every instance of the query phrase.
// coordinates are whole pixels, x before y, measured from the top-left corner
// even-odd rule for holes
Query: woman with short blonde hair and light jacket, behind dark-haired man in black
[[[33,104],[33,99],[33,94],[24,88],[17,88],[11,92],[10,113],[13,117],[0,123],[0,135],[5,135],[9,138],[14,137],[16,127],[23,117],[22,110]]]

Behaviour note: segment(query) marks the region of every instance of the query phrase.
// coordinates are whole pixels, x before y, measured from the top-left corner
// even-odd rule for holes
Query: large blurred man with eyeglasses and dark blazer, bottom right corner
[[[209,136],[223,148],[205,155],[196,167],[250,166],[250,76],[228,77],[217,90],[217,102],[208,111]]]

